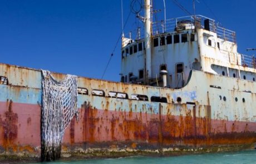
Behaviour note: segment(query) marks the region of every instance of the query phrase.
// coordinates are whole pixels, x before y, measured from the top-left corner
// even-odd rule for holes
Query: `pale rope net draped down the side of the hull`
[[[77,111],[77,77],[58,82],[42,70],[41,160],[60,158],[63,134]],[[78,117],[77,117],[78,118]]]

